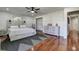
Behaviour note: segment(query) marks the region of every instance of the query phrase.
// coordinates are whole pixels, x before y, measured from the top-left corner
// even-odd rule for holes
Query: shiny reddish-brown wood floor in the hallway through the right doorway
[[[68,35],[67,49],[69,51],[79,51],[79,32],[72,30]]]

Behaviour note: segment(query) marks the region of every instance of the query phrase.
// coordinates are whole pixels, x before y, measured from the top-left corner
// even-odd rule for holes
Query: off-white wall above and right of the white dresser
[[[46,15],[37,16],[43,17],[43,26],[47,24],[55,25],[56,23],[60,26],[60,36],[67,38],[67,20],[64,20],[64,10],[55,11]]]

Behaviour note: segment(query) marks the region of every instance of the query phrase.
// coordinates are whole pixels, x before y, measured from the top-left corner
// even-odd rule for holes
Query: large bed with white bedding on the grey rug
[[[36,30],[26,27],[11,27],[8,29],[10,41],[19,40],[25,37],[33,36],[36,34]]]

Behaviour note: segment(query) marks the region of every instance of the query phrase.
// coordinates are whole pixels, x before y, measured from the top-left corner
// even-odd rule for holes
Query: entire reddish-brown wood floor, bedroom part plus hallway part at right
[[[79,51],[79,32],[70,31],[67,39],[49,36],[28,51]]]

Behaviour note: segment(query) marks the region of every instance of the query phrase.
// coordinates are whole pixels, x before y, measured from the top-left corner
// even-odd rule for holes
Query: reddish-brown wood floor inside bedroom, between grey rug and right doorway
[[[67,40],[62,37],[50,36],[46,40],[40,42],[34,47],[30,48],[29,51],[66,51]]]

